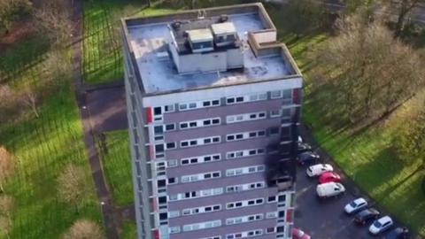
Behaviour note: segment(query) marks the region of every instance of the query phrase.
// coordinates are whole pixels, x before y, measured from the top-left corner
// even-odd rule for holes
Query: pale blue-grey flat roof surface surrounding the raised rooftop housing
[[[252,5],[259,6],[260,4],[251,4],[250,6]],[[288,66],[288,62],[282,56],[273,55],[257,58],[251,50],[248,43],[248,33],[270,29],[270,26],[265,26],[264,19],[261,19],[263,16],[260,16],[259,11],[247,12],[245,9],[245,11],[241,11],[243,13],[239,13],[237,8],[229,8],[231,8],[231,11],[226,12],[228,22],[233,23],[243,44],[244,68],[220,73],[179,74],[171,56],[164,57],[168,48],[167,44],[172,41],[168,26],[174,20],[179,19],[179,16],[184,16],[184,13],[172,14],[170,17],[162,16],[159,17],[160,20],[150,20],[149,18],[125,19],[123,22],[127,29],[126,37],[129,50],[134,53],[133,67],[137,68],[139,75],[136,77],[141,81],[139,83],[142,83],[144,93],[159,94],[174,90],[192,90],[255,81],[270,81],[291,75],[294,70],[292,66]],[[220,8],[221,12],[223,12],[222,9]],[[226,10],[226,7],[224,9]],[[213,21],[219,18],[220,15],[209,17]],[[132,21],[131,24],[127,22],[128,20]],[[162,57],[158,57],[158,55]]]

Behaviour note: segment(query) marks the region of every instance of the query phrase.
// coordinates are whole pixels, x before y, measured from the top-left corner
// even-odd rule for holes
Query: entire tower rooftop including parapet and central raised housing
[[[286,47],[276,42],[273,22],[257,4],[123,23],[138,81],[148,94],[299,74]]]

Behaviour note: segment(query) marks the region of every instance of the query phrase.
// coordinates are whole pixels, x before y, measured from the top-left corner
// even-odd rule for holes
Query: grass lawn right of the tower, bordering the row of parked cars
[[[424,236],[425,194],[421,190],[424,173],[413,174],[418,165],[403,166],[398,162],[390,144],[392,135],[397,134],[389,126],[391,120],[352,135],[329,127],[322,118],[326,113],[322,105],[326,105],[331,97],[324,96],[328,94],[326,89],[320,94],[323,97],[313,96],[311,92],[312,82],[308,76],[314,60],[309,57],[309,52],[320,47],[327,39],[328,35],[323,33],[300,37],[282,34],[282,40],[287,42],[290,52],[305,74],[303,122],[312,128],[314,139],[360,189],[391,215]]]

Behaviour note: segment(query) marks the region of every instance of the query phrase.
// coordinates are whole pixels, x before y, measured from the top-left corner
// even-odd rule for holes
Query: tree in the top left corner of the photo
[[[0,1],[0,29],[4,28],[7,34],[13,21],[27,15],[32,10],[28,0],[2,0]]]

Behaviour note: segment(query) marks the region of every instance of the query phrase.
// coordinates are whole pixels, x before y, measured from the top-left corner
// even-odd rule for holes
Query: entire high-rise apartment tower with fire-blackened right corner
[[[139,238],[291,238],[302,75],[262,4],[122,19]]]

